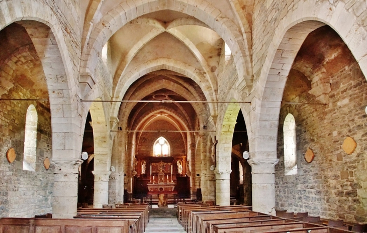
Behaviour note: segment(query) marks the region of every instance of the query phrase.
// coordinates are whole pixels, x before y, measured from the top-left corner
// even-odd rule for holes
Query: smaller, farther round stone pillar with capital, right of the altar
[[[230,174],[232,170],[217,170],[215,172],[216,203],[224,206],[230,205]]]

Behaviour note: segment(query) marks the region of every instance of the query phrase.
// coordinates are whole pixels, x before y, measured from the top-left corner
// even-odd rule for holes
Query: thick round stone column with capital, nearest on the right
[[[254,158],[248,160],[252,167],[252,209],[275,214],[275,171],[279,159]]]

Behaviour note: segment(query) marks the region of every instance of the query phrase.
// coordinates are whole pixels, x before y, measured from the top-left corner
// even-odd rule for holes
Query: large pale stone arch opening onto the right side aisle
[[[330,26],[338,33],[367,78],[367,47],[360,48],[361,44],[367,44],[365,37],[367,32],[360,26],[356,15],[353,11],[348,10],[349,7],[347,8],[345,3],[340,1],[335,5],[327,1],[316,2],[313,0],[299,4],[297,8],[288,12],[274,31],[259,81],[256,83],[256,89],[259,90],[257,92],[259,93],[258,97],[261,102],[260,112],[272,121],[278,121],[283,89],[298,50],[307,35],[323,25]],[[315,8],[315,6],[318,7]],[[293,42],[298,41],[298,43],[294,43],[293,48],[289,46],[290,43],[288,43],[288,46],[285,43],[292,39],[294,39]],[[270,97],[273,101],[269,101]],[[277,127],[278,122],[274,124],[274,128]],[[276,142],[271,144],[271,157],[276,158]],[[265,155],[269,153],[256,152],[256,154]]]

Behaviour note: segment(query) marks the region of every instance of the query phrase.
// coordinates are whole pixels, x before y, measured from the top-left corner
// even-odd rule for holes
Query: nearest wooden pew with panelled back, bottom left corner
[[[129,220],[0,218],[0,233],[129,232]]]

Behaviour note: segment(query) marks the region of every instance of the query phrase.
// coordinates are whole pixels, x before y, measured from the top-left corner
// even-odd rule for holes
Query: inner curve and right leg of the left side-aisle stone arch
[[[30,17],[25,17],[30,18]],[[17,19],[14,19],[14,21]],[[72,88],[72,80],[69,77],[73,77],[70,72],[67,72],[70,66],[65,64],[68,61],[68,53],[63,51],[63,39],[57,38],[54,34],[54,28],[50,28],[44,20],[36,19],[16,21],[17,24],[23,26],[28,32],[37,55],[41,61],[43,72],[46,78],[46,84],[48,87],[48,96],[50,100],[51,118],[57,119],[73,118],[72,116],[72,99],[76,96],[75,88]],[[59,45],[59,42],[61,44]],[[63,53],[61,53],[61,51]],[[70,68],[72,70],[72,68]],[[66,85],[65,85],[66,83]],[[71,121],[71,120],[70,120]],[[65,151],[68,150],[70,157],[78,157],[79,152],[75,149],[77,140],[68,140],[72,135],[77,138],[78,133],[71,124],[64,123],[63,121],[52,121],[52,158],[61,159],[65,158]],[[75,133],[65,133],[75,132]],[[68,135],[68,136],[66,136]]]

